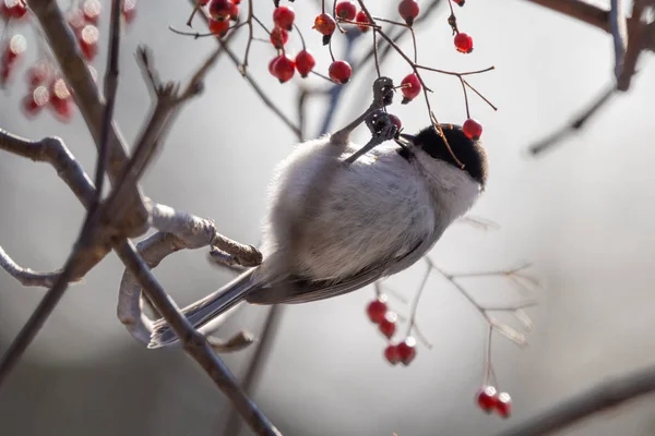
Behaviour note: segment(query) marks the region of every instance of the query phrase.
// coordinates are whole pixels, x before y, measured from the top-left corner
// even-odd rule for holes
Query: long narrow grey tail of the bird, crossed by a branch
[[[198,329],[210,322],[212,325],[218,325],[218,317],[222,318],[222,322],[228,315],[228,311],[231,313],[230,310],[236,308],[235,306],[243,301],[246,293],[255,286],[252,279],[254,269],[243,272],[217,291],[184,307],[182,314],[187,316],[193,328]],[[158,319],[153,324],[153,332],[147,348],[166,347],[177,340],[178,337],[168,323],[165,319]]]

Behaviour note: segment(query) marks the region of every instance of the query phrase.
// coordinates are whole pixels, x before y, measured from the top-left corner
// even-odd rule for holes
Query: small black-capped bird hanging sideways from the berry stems
[[[367,153],[358,155],[362,147],[350,143],[349,131],[337,132],[299,144],[278,165],[262,264],[183,308],[195,328],[242,301],[307,303],[400,272],[475,204],[487,181],[479,141],[453,124],[439,124],[446,141],[433,125],[416,135],[397,134],[395,125],[379,119],[381,126],[367,120],[373,133]],[[148,347],[177,340],[159,319]]]

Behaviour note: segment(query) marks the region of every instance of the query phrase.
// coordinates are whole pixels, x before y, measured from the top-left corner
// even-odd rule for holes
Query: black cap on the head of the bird
[[[487,182],[487,153],[479,141],[469,140],[460,125],[439,124],[439,126],[443,131],[453,154],[464,165],[463,170],[484,186]],[[430,125],[421,130],[417,135],[401,133],[401,137],[409,141],[414,146],[419,147],[434,159],[443,160],[462,169],[433,126]]]

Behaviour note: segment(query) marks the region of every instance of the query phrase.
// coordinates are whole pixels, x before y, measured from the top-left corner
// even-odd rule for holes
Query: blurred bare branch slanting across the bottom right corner
[[[598,384],[497,436],[540,436],[655,391],[655,366]]]

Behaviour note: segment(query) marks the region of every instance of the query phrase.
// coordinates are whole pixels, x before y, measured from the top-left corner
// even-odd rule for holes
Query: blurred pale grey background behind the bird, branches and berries
[[[255,3],[257,14],[270,23],[272,2]],[[109,1],[103,5],[102,51],[94,63],[100,77]],[[374,15],[396,19],[395,1],[368,5]],[[301,0],[293,7],[317,57],[317,69],[325,72],[327,50],[310,29],[319,5]],[[188,78],[214,48],[212,38],[195,40],[168,29],[168,25],[183,28],[189,13],[186,1],[142,0],[138,5],[138,17],[122,39],[116,112],[129,142],[138,135],[151,105],[134,62],[138,45],[154,50],[166,80]],[[489,435],[607,377],[653,363],[652,56],[642,57],[642,72],[631,90],[616,98],[582,134],[532,158],[526,153],[532,142],[569,122],[610,83],[610,36],[520,0],[468,0],[456,14],[460,29],[474,37],[475,51],[462,56],[453,49],[445,22],[448,3],[442,2],[430,22],[418,28],[419,62],[452,71],[497,68],[471,77],[499,107],[493,112],[471,96],[472,116],[485,126],[490,159],[487,191],[472,214],[497,222],[500,229],[455,225],[430,256],[449,271],[534,263],[531,272],[545,288],[537,293],[539,305],[528,310],[535,323],[529,347],[520,349],[501,337],[493,339],[499,387],[512,395],[513,416],[503,421],[475,407],[473,398],[483,383],[486,326],[456,289],[433,275],[417,315],[433,348],[419,342],[408,367],[391,366],[382,356],[386,341],[365,315],[374,298],[372,287],[282,310],[252,395],[287,436]],[[195,26],[204,32],[200,21]],[[33,32],[27,34],[33,43]],[[241,58],[246,37],[247,32],[239,31],[233,44]],[[345,37],[335,35],[337,58],[345,43]],[[294,33],[289,44],[300,49]],[[358,38],[353,57],[370,47],[369,33]],[[410,38],[402,47],[409,52]],[[23,66],[32,63],[35,52],[29,51]],[[279,85],[267,73],[273,56],[270,45],[255,43],[250,71],[296,119],[298,83],[318,88],[329,84],[312,76]],[[392,55],[382,73],[400,82],[409,69]],[[331,131],[364,110],[373,77],[370,63],[355,71]],[[426,73],[425,78],[434,90],[431,101],[438,119],[462,123],[466,112],[457,80],[436,73]],[[25,93],[19,74],[0,94],[0,125],[33,140],[61,136],[91,172],[95,147],[80,114],[70,124],[47,113],[27,120],[20,110]],[[406,106],[398,101],[392,111],[408,132],[429,123],[420,98]],[[309,137],[320,131],[329,107],[324,96],[310,98]],[[356,136],[365,142],[366,130]],[[142,186],[156,202],[212,218],[222,233],[257,244],[269,178],[296,141],[225,57],[209,75],[204,94],[177,119]],[[83,216],[82,206],[50,167],[0,153],[0,243],[17,263],[37,270],[59,268]],[[179,349],[146,350],[116,318],[122,270],[110,254],[82,284],[66,293],[0,390],[0,434],[233,436],[225,429],[231,408],[201,368]],[[410,300],[424,271],[425,264],[419,263],[388,283]],[[155,275],[179,305],[214,291],[231,277],[211,265],[204,250],[168,257]],[[520,298],[503,279],[472,279],[466,287],[486,304]],[[0,352],[44,293],[0,272]],[[409,304],[398,299],[392,296],[391,305],[402,315],[409,314]],[[265,313],[263,307],[247,307],[217,334],[228,337],[241,328],[259,334]],[[224,359],[237,376],[243,376],[253,352],[254,347]],[[655,402],[646,398],[561,434],[653,435],[654,415]]]

